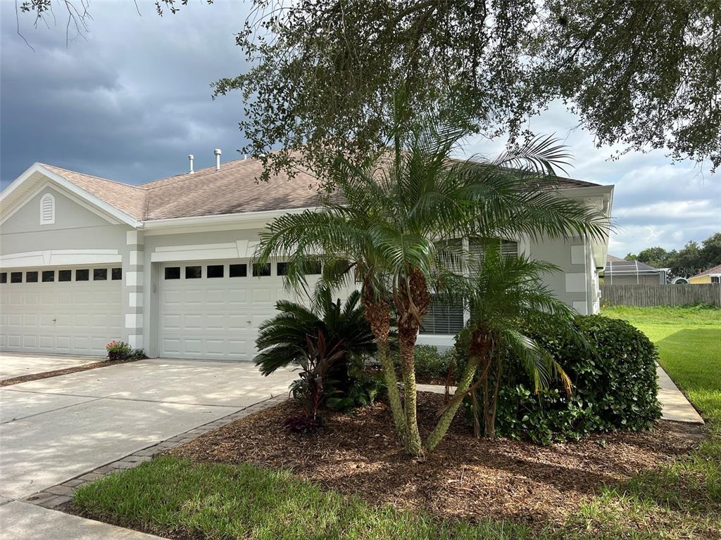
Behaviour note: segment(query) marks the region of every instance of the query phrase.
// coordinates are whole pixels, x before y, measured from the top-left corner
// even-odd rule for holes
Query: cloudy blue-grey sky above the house
[[[234,33],[247,2],[191,2],[160,18],[151,2],[95,1],[87,39],[66,46],[66,18],[56,8],[34,27],[31,14],[0,0],[0,179],[6,186],[35,161],[138,184],[179,174],[187,154],[196,168],[244,145],[239,94],[213,101],[209,84],[244,71]],[[72,37],[72,36],[71,36]],[[578,119],[554,104],[531,122],[554,133],[575,156],[570,176],[616,184],[618,232],[611,253],[649,246],[681,248],[721,230],[719,174],[695,163],[673,164],[663,152],[596,148]],[[468,153],[494,155],[502,143],[472,141]]]

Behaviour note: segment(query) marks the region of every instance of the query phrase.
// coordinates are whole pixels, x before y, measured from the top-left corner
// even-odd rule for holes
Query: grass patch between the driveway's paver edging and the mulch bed
[[[437,521],[371,506],[289,472],[159,456],[81,487],[74,504],[121,526],[187,539],[531,539],[526,526]]]

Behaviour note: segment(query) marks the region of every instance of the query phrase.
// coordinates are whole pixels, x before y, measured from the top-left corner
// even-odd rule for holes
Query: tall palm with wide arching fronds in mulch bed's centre
[[[351,163],[332,159],[327,183],[337,196],[317,211],[285,215],[261,233],[259,262],[288,256],[288,284],[302,287],[306,270],[324,264],[322,282],[360,284],[399,438],[420,456],[413,349],[439,269],[459,268],[464,253],[451,241],[473,232],[529,238],[567,234],[600,237],[596,210],[552,189],[554,165],[567,154],[536,139],[490,163],[451,156],[471,131],[462,107],[425,114],[420,127],[403,122],[389,153]],[[339,200],[340,199],[340,200]],[[322,253],[322,255],[318,255]],[[388,354],[391,307],[397,316],[403,400]]]

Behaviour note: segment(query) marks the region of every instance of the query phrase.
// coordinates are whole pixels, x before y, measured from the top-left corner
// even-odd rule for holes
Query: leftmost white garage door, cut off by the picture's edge
[[[122,270],[0,272],[0,349],[105,356],[123,335]]]

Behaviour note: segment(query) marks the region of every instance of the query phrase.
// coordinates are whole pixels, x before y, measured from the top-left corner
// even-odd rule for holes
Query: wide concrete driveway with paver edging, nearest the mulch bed
[[[0,503],[288,392],[292,379],[150,359],[0,388]]]

